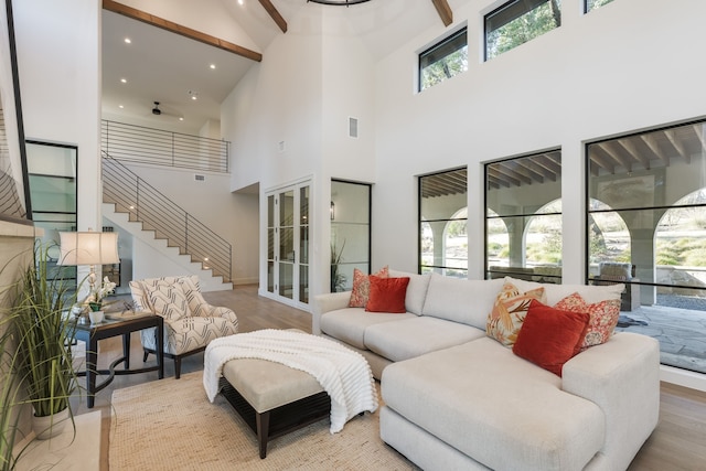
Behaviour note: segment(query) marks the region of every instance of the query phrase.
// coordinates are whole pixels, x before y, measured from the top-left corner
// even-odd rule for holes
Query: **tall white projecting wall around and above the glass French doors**
[[[272,189],[312,179],[313,217],[329,221],[332,176],[374,178],[372,61],[345,26],[342,9],[300,9],[222,107],[224,137],[233,144],[232,189]],[[349,116],[359,138],[347,136]],[[260,208],[265,221],[266,205]],[[329,224],[312,234],[317,269],[312,293],[329,287]],[[260,227],[260,279],[265,285],[266,232]]]

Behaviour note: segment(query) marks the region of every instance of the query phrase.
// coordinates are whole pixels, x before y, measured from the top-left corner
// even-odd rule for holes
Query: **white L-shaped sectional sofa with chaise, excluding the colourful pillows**
[[[616,333],[564,364],[561,376],[486,336],[504,280],[409,277],[405,313],[349,308],[350,292],[313,301],[314,334],[359,351],[381,379],[381,437],[425,470],[623,470],[654,430],[660,352]],[[622,285],[539,285],[554,306],[573,292],[619,299]]]

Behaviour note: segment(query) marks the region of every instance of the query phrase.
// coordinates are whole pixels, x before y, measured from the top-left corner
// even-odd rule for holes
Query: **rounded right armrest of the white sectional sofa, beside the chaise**
[[[563,388],[598,405],[606,416],[600,454],[613,469],[627,469],[654,430],[660,414],[660,344],[646,335],[620,332],[569,360]]]

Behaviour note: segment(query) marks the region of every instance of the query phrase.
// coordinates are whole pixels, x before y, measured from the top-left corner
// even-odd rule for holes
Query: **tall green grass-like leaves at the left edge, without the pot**
[[[49,277],[47,250],[38,244],[33,263],[15,285],[2,290],[12,302],[0,312],[1,470],[13,469],[19,458],[12,456],[18,407],[31,405],[35,416],[50,416],[68,407],[77,385],[71,350],[75,323],[64,315],[75,293],[63,280]]]

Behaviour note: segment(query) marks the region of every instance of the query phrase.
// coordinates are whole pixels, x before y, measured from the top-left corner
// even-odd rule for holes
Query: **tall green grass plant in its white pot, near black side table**
[[[73,425],[69,398],[77,387],[72,357],[76,325],[67,310],[76,291],[58,272],[51,272],[49,247],[38,244],[34,263],[19,281],[11,325],[17,338],[19,381],[24,386],[24,404],[34,411],[33,429],[44,439]]]

